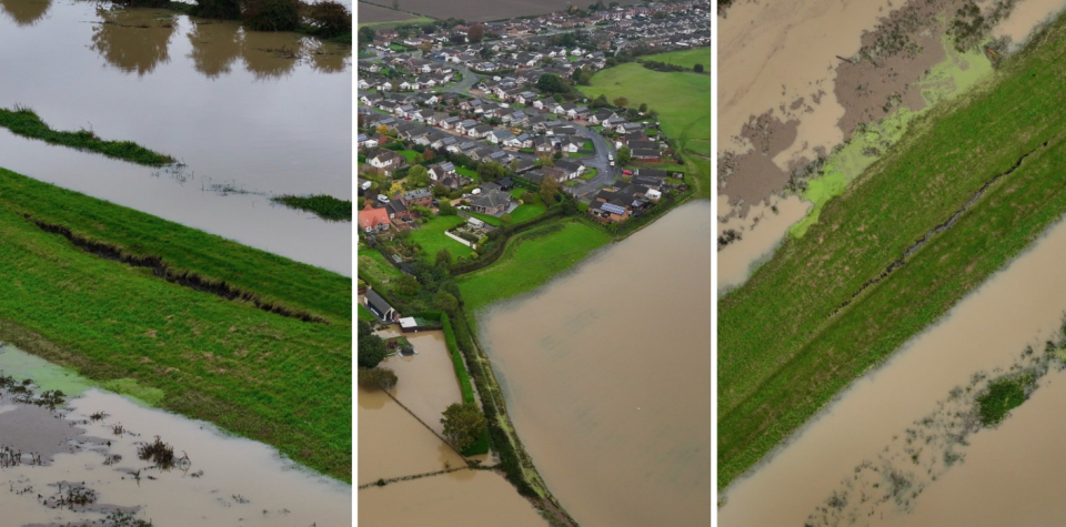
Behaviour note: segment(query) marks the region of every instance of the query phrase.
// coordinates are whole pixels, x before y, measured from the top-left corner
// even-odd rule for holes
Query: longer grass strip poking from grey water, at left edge
[[[0,108],[0,126],[30,139],[39,139],[49,144],[68,146],[88,152],[97,152],[109,158],[120,159],[149,166],[162,166],[174,162],[170,155],[145,149],[131,141],[105,141],[91,130],[61,132],[52,130],[33,110],[16,107],[14,110]]]

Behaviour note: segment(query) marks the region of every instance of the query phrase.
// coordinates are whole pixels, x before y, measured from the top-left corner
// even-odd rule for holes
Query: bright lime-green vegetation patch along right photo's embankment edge
[[[892,115],[855,131],[843,149],[834,152],[826,161],[823,174],[808,182],[803,199],[814,203],[807,215],[790,227],[788,233],[801,237],[811,225],[818,222],[822,207],[842,194],[848,183],[858,178],[906,133],[907,125],[915,118],[926,113],[937,103],[951,100],[988,79],[993,73],[992,62],[980,52],[959,53],[945,38],[943,41],[947,58],[929,70],[918,82],[926,107],[917,112],[899,108]]]

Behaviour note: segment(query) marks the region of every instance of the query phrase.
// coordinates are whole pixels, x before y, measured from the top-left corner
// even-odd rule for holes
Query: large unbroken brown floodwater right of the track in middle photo
[[[581,525],[708,525],[711,203],[480,318],[515,429]]]

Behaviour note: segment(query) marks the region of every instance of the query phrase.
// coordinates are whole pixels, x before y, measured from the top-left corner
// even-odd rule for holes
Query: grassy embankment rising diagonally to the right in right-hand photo
[[[1059,19],[993,81],[915,119],[803,237],[720,300],[720,488],[1062,217],[1064,90]]]

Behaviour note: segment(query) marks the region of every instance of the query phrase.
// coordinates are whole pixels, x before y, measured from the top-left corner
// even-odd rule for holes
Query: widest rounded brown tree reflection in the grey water
[[[92,49],[109,64],[143,77],[160,63],[170,62],[168,48],[174,34],[172,17],[154,10],[109,10],[99,8],[103,19],[92,29]]]

